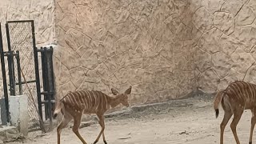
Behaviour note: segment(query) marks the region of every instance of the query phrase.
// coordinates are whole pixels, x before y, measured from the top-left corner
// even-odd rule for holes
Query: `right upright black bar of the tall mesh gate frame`
[[[34,21],[31,23],[31,26],[32,26],[32,38],[33,38],[33,47],[34,47],[34,73],[36,78],[37,95],[38,95],[38,111],[42,119],[42,99],[41,99],[41,90],[40,90],[40,76],[39,76],[39,69],[38,69],[38,51],[35,45],[35,36],[34,36]]]

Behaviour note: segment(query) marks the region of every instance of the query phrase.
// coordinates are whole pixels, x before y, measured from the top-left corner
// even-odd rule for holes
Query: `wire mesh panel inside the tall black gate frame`
[[[32,34],[32,22],[8,22],[9,27],[9,35],[10,35],[10,48],[11,50],[19,50],[20,55],[20,64],[21,70],[26,76],[26,81],[34,81],[35,77],[35,70],[34,70],[34,47],[33,47],[33,34]],[[14,70],[15,70],[15,82],[18,82],[18,66],[17,61],[14,60]],[[22,82],[25,82],[24,78],[22,77]],[[37,102],[37,90],[36,90],[36,83],[28,83],[22,85],[22,94],[26,94],[29,98],[29,130],[39,129],[39,121],[38,121],[38,114],[36,109],[38,107],[34,106],[32,97],[38,105]],[[18,85],[15,86],[16,94],[18,93]],[[30,91],[32,93],[32,97],[30,95]]]

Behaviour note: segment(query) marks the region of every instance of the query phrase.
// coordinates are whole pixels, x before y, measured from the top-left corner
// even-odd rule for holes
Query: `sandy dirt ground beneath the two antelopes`
[[[219,124],[223,110],[215,118],[212,95],[199,95],[194,98],[170,101],[152,106],[130,108],[132,112],[116,114],[106,118],[106,141],[110,144],[212,144],[219,143]],[[238,123],[238,137],[241,143],[248,143],[250,136],[250,110],[246,110]],[[231,118],[230,120],[232,120]],[[230,121],[231,122],[231,121]],[[226,143],[235,143],[230,122],[226,126]],[[80,129],[80,134],[88,144],[98,136],[100,126],[94,124]],[[23,143],[55,144],[56,129],[50,134],[36,136],[30,133]],[[254,134],[255,135],[255,134]],[[62,131],[62,144],[82,143],[70,128]],[[254,137],[254,142],[256,142]],[[17,144],[19,142],[10,142]],[[100,138],[98,144],[103,144]]]

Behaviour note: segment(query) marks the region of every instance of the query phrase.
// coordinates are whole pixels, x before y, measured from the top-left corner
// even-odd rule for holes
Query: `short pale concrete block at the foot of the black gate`
[[[28,98],[26,95],[10,96],[10,123],[17,126],[20,133],[26,136],[29,130]]]

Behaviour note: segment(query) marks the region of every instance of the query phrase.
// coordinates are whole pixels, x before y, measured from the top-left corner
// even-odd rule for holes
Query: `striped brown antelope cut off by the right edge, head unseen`
[[[214,101],[216,118],[218,118],[218,105],[220,102],[222,102],[222,108],[225,112],[224,118],[220,125],[220,143],[223,144],[224,129],[227,122],[234,114],[234,118],[230,124],[230,127],[234,134],[235,141],[237,142],[237,144],[240,144],[236,127],[242,116],[243,111],[251,110],[252,118],[249,144],[252,144],[254,125],[256,123],[256,85],[248,82],[237,81],[230,83],[230,85],[227,86],[226,90],[219,91]]]

